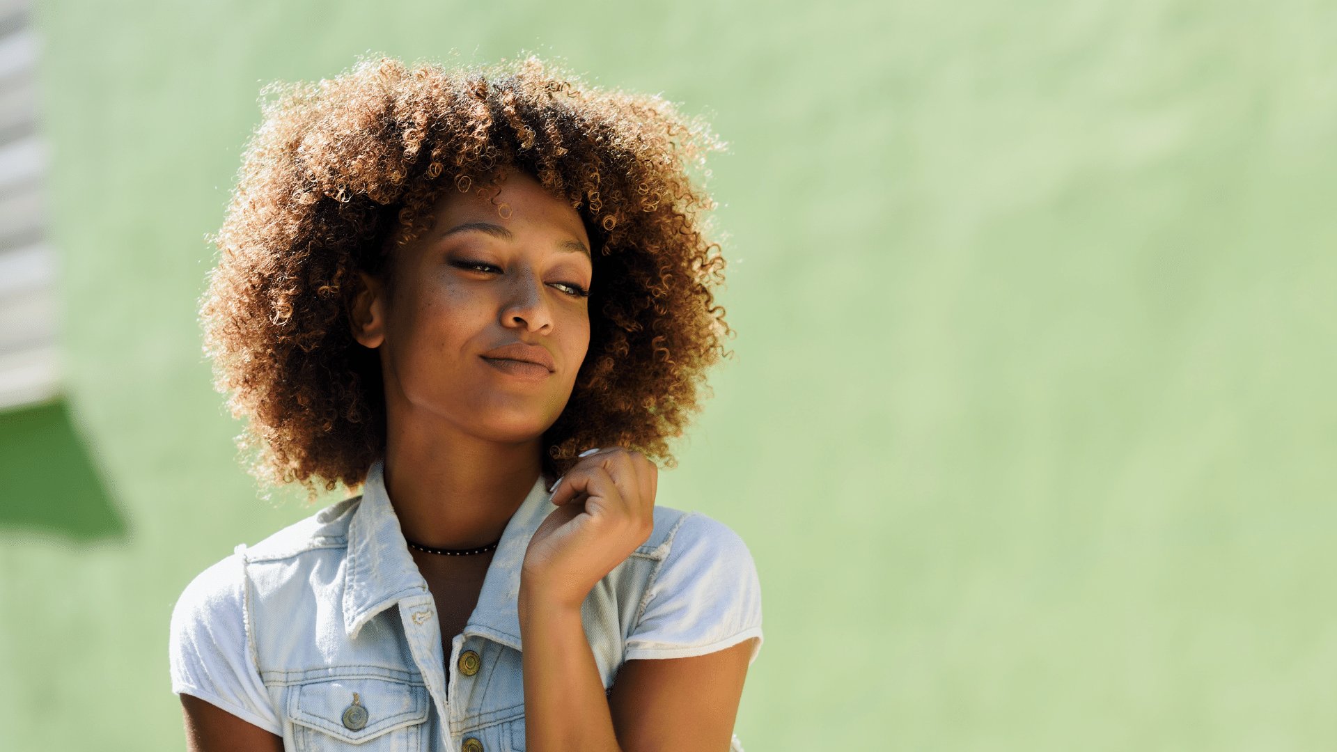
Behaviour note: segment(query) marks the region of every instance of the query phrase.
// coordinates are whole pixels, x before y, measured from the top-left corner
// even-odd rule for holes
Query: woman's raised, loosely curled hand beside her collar
[[[659,468],[622,447],[587,450],[552,490],[558,510],[524,554],[524,601],[579,609],[596,582],[650,539]]]

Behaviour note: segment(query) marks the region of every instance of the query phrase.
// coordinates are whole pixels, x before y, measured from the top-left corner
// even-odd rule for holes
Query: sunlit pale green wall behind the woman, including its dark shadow
[[[39,3],[63,397],[0,415],[5,749],[178,749],[257,498],[195,306],[263,83],[535,52],[713,161],[659,503],[761,574],[750,752],[1333,749],[1337,5]],[[62,428],[64,427],[64,428]],[[281,498],[282,496],[282,498]]]

